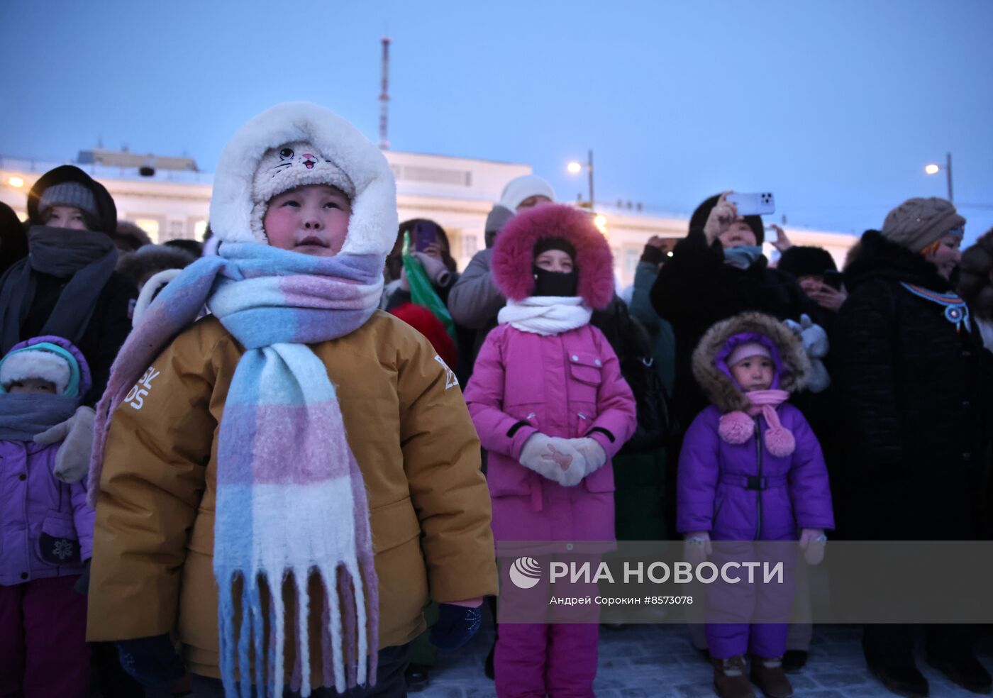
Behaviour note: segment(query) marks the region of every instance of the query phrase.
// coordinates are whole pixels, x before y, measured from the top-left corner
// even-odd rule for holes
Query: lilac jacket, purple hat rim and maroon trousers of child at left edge
[[[78,349],[61,338],[40,341]],[[0,695],[83,696],[88,693],[86,598],[73,590],[91,555],[94,511],[83,483],[54,475],[59,444],[0,441]]]

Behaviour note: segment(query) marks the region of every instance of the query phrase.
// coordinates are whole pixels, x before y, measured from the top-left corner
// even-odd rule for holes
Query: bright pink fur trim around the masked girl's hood
[[[543,237],[562,237],[572,243],[579,269],[579,295],[591,308],[606,308],[614,298],[611,246],[588,212],[562,204],[523,210],[499,231],[491,269],[500,293],[511,301],[531,295],[534,243]]]

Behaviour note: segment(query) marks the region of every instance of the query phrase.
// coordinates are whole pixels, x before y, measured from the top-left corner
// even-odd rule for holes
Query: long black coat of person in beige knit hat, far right
[[[944,308],[901,282],[945,293],[936,267],[862,236],[845,271],[848,300],[835,327],[834,378],[848,457],[843,525],[866,539],[968,539],[984,509],[989,354]]]

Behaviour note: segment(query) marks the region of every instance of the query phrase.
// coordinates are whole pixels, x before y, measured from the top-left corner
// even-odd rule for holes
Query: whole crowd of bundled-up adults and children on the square
[[[208,239],[152,244],[62,166],[0,205],[0,695],[402,696],[496,618],[501,541],[991,533],[993,230],[910,199],[839,271],[724,192],[617,287],[529,175],[461,271],[308,103],[245,124]],[[923,515],[922,512],[926,512]],[[761,604],[728,597],[721,603]],[[497,696],[593,696],[600,626],[498,624]],[[810,628],[693,624],[722,698],[792,695]],[[927,661],[991,690],[969,626]],[[869,670],[926,696],[915,628]],[[816,657],[810,658],[816,661]]]

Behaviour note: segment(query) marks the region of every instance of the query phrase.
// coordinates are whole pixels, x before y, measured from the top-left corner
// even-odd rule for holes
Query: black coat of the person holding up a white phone
[[[693,379],[690,357],[714,323],[746,311],[799,320],[816,315],[815,304],[785,272],[769,268],[761,257],[748,269],[724,263],[720,241],[707,244],[702,230],[690,230],[658,272],[651,289],[655,311],[672,326],[676,340],[673,408],[681,424],[689,424],[707,406]]]

